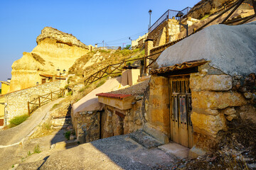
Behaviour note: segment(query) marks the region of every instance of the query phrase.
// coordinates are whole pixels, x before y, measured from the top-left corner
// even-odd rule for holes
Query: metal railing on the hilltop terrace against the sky
[[[184,16],[188,13],[188,11],[191,10],[191,7],[186,7],[184,8],[181,12],[184,13]],[[171,19],[173,17],[175,17],[176,19],[178,19],[176,17],[178,11],[175,10],[167,10],[150,28],[149,28],[149,33],[151,33],[152,30],[156,29],[161,23],[163,23],[164,21]]]

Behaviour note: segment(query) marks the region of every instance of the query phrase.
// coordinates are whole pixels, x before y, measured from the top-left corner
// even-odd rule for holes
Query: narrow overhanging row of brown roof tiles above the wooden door
[[[154,69],[151,70],[151,74],[159,74],[159,73],[166,73],[166,72],[173,72],[178,69],[188,69],[192,67],[198,67],[203,64],[206,64],[206,60],[194,60],[190,62],[183,62],[182,64],[175,64],[173,66],[168,66],[168,67],[161,67],[160,69]]]

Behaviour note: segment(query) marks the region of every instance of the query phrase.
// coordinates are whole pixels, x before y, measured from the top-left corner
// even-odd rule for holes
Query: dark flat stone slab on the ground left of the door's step
[[[137,142],[139,145],[146,147],[146,149],[151,149],[162,145],[158,140],[154,139],[154,137],[149,136],[142,130],[137,130],[136,132],[130,133],[129,137]]]

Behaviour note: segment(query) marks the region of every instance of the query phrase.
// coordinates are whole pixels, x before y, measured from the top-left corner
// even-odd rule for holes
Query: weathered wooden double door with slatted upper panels
[[[191,90],[189,76],[169,77],[171,140],[185,147],[193,147],[191,123]]]

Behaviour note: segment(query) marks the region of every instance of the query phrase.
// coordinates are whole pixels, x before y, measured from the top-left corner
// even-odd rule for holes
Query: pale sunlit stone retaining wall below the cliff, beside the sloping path
[[[51,91],[60,90],[60,81],[52,81],[49,83],[33,86],[28,89],[14,91],[5,94],[3,97],[6,99],[6,122],[17,115],[28,113],[28,101],[38,95],[49,94]]]

